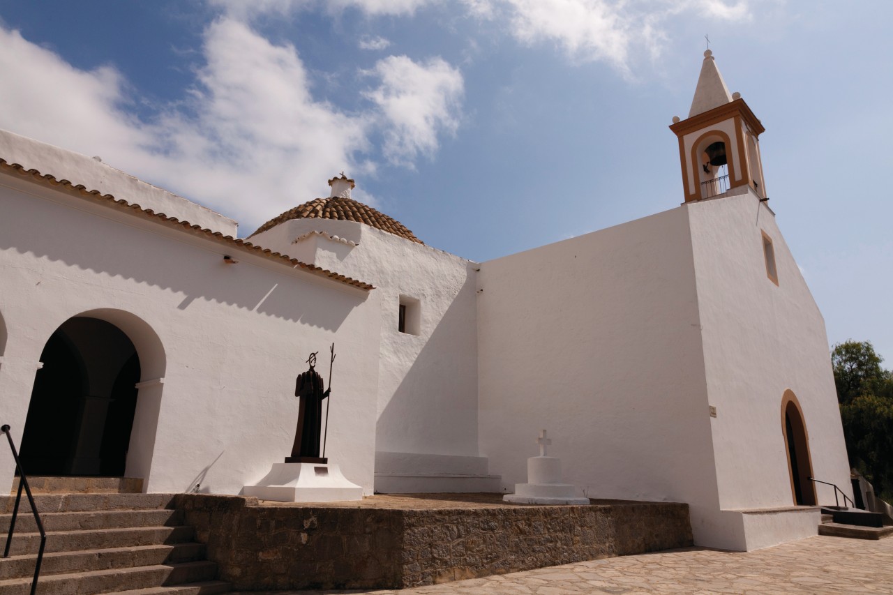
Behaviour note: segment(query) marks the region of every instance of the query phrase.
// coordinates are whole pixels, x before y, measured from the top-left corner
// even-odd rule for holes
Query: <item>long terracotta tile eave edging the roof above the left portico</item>
[[[357,281],[355,279],[351,279],[350,277],[346,277],[344,275],[338,274],[337,272],[332,272],[327,269],[323,269],[319,266],[315,266],[313,264],[303,263],[296,258],[292,258],[291,256],[280,254],[279,252],[273,252],[269,248],[264,248],[260,246],[255,246],[249,241],[245,239],[233,238],[232,236],[224,236],[220,231],[213,231],[207,228],[203,228],[199,225],[193,225],[188,221],[180,221],[176,217],[168,217],[163,213],[155,213],[152,209],[144,209],[140,205],[135,203],[129,203],[126,200],[119,199],[113,197],[111,194],[103,194],[99,190],[88,190],[84,186],[80,184],[72,184],[69,180],[57,180],[54,176],[49,174],[44,174],[38,172],[37,170],[26,170],[19,163],[9,163],[2,157],[0,157],[0,170],[13,170],[14,172],[19,173],[22,176],[30,176],[34,180],[38,180],[38,182],[43,182],[45,184],[51,186],[63,186],[67,189],[71,189],[79,192],[82,197],[93,199],[97,202],[101,201],[107,205],[115,206],[124,210],[130,214],[134,215],[143,215],[149,218],[154,219],[157,222],[163,222],[169,226],[174,228],[179,228],[183,231],[192,232],[198,235],[203,235],[209,239],[213,239],[222,245],[227,247],[234,247],[243,252],[248,252],[251,254],[267,256],[280,264],[286,264],[291,266],[292,268],[301,268],[307,272],[312,272],[313,274],[319,275],[321,277],[327,277],[334,281],[339,281],[341,283],[346,283],[346,285],[351,285],[353,287],[357,287],[360,289],[375,289],[371,284],[365,283],[363,281]],[[352,201],[353,202],[353,201]],[[256,231],[255,231],[256,233]]]

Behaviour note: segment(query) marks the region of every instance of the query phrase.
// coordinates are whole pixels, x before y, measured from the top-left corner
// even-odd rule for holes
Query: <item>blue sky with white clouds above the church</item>
[[[705,33],[830,343],[893,367],[893,3],[0,0],[0,128],[247,235],[346,171],[483,261],[670,209]]]

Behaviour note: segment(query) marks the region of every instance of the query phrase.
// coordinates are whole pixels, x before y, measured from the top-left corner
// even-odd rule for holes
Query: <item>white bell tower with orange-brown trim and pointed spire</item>
[[[670,130],[679,138],[685,202],[740,194],[733,190],[747,186],[766,197],[759,145],[765,129],[740,93],[729,94],[709,49],[689,117],[675,116],[672,122]]]

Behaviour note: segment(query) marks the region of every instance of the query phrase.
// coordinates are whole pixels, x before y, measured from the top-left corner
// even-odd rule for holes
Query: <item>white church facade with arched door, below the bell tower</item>
[[[793,504],[785,390],[803,407],[814,476],[852,497],[822,314],[775,216],[750,189],[689,212],[722,508]],[[772,239],[777,286],[766,274],[761,230]],[[834,504],[832,488],[820,484],[816,493]]]

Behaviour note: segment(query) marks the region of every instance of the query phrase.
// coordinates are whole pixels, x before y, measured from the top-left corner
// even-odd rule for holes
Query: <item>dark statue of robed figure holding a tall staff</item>
[[[332,361],[335,361],[334,344],[332,345]],[[320,457],[320,439],[322,437],[322,399],[329,397],[331,378],[329,379],[330,388],[325,389],[322,376],[314,368],[316,365],[315,353],[310,355],[307,363],[310,364],[310,369],[301,373],[295,382],[295,396],[301,399],[301,405],[297,414],[295,444],[291,448],[291,457],[285,458],[286,463],[326,463],[328,461],[328,459]],[[331,376],[331,370],[329,375]],[[329,416],[326,415],[326,426],[328,425]]]

